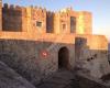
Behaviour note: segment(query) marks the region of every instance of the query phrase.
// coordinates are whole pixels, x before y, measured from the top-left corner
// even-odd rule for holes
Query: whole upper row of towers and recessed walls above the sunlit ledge
[[[66,33],[72,33],[70,28],[73,28],[73,33],[91,33],[91,13],[73,11],[72,7],[54,12],[37,6],[21,7],[4,3],[1,14],[3,31],[32,32],[40,30],[41,33],[62,33],[65,29]]]

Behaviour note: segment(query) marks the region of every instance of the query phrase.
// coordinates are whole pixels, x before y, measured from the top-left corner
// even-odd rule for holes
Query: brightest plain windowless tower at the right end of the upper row
[[[92,34],[92,15],[90,12],[78,12],[77,34]]]

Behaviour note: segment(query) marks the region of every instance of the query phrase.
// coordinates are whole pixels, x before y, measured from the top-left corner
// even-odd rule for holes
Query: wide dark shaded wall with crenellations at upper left
[[[2,8],[2,30],[21,32],[22,23],[22,9],[6,3]]]

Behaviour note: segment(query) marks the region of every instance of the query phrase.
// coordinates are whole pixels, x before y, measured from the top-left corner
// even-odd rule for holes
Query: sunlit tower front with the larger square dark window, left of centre
[[[46,9],[32,8],[31,23],[31,29],[36,30],[37,33],[46,33]]]

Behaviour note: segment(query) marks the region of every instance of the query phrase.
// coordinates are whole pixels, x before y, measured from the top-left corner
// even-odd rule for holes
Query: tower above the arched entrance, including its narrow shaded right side
[[[70,18],[74,18],[74,22],[72,22]],[[54,30],[55,33],[57,34],[62,34],[62,33],[66,33],[66,34],[75,34],[76,33],[76,24],[77,24],[77,12],[73,11],[72,9],[67,8],[67,9],[63,9],[59,12],[55,13],[55,18],[54,18]],[[74,26],[74,30],[72,32],[72,28]]]

